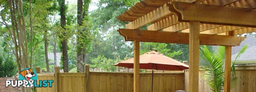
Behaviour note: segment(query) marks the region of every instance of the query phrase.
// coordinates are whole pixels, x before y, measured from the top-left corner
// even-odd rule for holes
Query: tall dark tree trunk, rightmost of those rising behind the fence
[[[78,26],[82,26],[82,20],[83,20],[83,0],[77,0],[77,24]],[[83,71],[83,65],[82,65],[82,61],[83,61],[83,54],[82,52],[83,50],[83,45],[81,44],[81,40],[82,40],[82,29],[78,28],[78,33],[77,33],[77,72],[82,72]]]

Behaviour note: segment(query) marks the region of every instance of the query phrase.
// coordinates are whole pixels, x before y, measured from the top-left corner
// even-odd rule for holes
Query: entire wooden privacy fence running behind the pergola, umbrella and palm
[[[89,68],[89,67],[87,67]],[[132,72],[88,72],[64,73],[55,69],[55,73],[38,73],[39,80],[54,80],[52,88],[37,88],[38,92],[133,92]],[[212,92],[199,72],[199,92]],[[57,76],[56,76],[57,75]],[[88,75],[88,77],[86,76]],[[256,92],[256,66],[237,66],[237,86],[232,92]],[[87,80],[87,81],[86,81]],[[140,74],[141,92],[151,92],[151,73]],[[57,83],[57,84],[56,84]],[[58,86],[55,86],[58,85]],[[188,70],[178,72],[156,72],[154,74],[154,92],[188,91]]]

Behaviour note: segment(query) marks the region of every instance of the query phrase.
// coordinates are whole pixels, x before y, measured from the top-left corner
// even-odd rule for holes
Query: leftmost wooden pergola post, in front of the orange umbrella
[[[140,92],[140,41],[134,41],[133,92]]]

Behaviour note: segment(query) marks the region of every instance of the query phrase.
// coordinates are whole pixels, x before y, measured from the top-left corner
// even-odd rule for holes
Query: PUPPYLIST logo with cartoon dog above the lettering
[[[19,73],[19,80],[6,80],[6,87],[11,85],[12,87],[24,88],[30,87],[52,87],[53,80],[37,80],[36,71],[33,69],[23,69]],[[37,83],[39,81],[39,84]]]

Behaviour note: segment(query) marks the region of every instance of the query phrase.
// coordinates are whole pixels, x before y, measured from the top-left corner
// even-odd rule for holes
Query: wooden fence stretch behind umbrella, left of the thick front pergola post
[[[64,73],[59,72],[56,67],[55,73],[38,73],[39,80],[54,80],[54,85],[52,88],[37,88],[37,90],[38,92],[133,92],[132,72],[88,72],[88,69],[87,66],[85,73]],[[151,73],[141,73],[141,92],[151,92],[151,82]],[[184,90],[184,73],[155,73],[153,86],[154,92]]]

